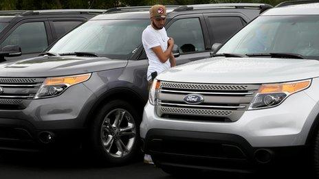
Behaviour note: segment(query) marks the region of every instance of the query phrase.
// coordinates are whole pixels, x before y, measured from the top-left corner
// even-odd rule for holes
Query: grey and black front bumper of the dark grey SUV
[[[58,97],[33,99],[23,110],[0,110],[0,150],[33,151],[78,143],[89,114],[85,109],[95,99],[84,84],[76,84]],[[45,134],[51,134],[52,140],[43,141]]]

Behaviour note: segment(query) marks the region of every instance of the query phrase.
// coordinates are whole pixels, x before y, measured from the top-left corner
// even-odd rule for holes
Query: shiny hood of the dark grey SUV
[[[0,64],[1,77],[52,77],[125,67],[127,60],[77,56],[41,56]]]

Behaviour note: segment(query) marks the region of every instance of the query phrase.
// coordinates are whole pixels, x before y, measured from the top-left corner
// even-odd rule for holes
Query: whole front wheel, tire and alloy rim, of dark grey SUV
[[[140,116],[131,104],[113,100],[89,128],[87,148],[102,165],[124,165],[139,153]]]

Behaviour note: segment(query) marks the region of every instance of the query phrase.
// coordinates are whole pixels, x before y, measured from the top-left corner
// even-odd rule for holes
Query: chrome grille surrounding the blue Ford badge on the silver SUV
[[[237,121],[248,109],[259,84],[195,84],[161,82],[155,105],[159,117],[221,117]],[[187,104],[184,97],[197,94],[201,104]]]

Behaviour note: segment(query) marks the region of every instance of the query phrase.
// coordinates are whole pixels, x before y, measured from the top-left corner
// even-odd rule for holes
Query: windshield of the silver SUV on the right
[[[294,53],[319,59],[319,16],[259,16],[218,53]]]

